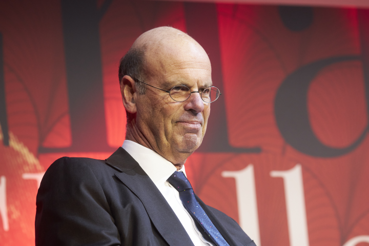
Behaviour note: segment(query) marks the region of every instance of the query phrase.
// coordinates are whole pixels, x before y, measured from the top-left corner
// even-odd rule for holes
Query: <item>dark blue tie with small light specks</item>
[[[193,218],[201,224],[201,227],[208,233],[213,241],[219,246],[229,246],[196,200],[190,181],[188,181],[185,174],[175,171],[172,176],[168,178],[168,182],[179,192],[179,198],[183,206],[185,206],[187,211],[192,214]]]

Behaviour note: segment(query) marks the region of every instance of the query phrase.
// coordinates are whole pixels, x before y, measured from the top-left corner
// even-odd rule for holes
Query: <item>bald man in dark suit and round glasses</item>
[[[207,53],[177,29],[152,29],[120,60],[119,82],[123,146],[106,160],[50,166],[37,194],[36,245],[255,246],[194,194],[183,166],[220,95]]]

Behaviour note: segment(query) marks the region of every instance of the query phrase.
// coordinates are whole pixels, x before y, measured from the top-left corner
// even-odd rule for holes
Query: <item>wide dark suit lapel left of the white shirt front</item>
[[[169,245],[194,245],[154,182],[127,151],[119,147],[106,163],[120,171],[115,176],[141,200],[155,228]]]

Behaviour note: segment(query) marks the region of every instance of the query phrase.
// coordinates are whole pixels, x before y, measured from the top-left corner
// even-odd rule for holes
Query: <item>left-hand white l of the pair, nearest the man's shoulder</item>
[[[254,166],[250,164],[240,171],[223,171],[221,175],[235,179],[240,226],[251,239],[254,239],[256,245],[261,246]]]

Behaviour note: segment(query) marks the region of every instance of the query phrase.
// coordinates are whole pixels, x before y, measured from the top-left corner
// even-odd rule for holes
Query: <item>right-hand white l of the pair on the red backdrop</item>
[[[301,165],[287,171],[271,171],[270,175],[283,178],[290,245],[309,246]]]

